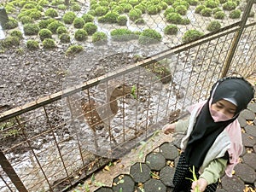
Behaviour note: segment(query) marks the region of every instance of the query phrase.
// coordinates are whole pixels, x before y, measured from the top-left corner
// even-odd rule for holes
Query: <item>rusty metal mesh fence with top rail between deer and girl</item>
[[[217,79],[255,73],[256,22],[247,23],[247,14],[190,44],[1,113],[0,191],[64,191],[182,117]]]

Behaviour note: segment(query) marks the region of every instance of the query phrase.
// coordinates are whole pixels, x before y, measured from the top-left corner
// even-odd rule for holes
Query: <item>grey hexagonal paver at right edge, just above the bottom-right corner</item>
[[[256,179],[255,172],[252,167],[247,164],[240,163],[235,167],[236,176],[240,177],[245,183],[254,183]]]

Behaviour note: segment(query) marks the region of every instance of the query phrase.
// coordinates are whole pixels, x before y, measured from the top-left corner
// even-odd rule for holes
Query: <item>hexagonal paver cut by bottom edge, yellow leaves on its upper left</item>
[[[113,192],[134,192],[135,182],[130,175],[120,174],[113,178],[112,189]]]

